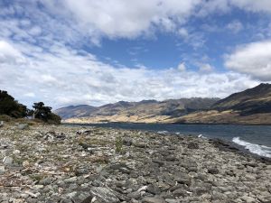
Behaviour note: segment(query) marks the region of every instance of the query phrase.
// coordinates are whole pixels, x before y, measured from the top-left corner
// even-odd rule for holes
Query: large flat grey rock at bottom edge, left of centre
[[[93,197],[96,197],[99,202],[104,203],[118,203],[119,198],[113,193],[111,189],[103,187],[93,187],[90,189],[90,193]]]

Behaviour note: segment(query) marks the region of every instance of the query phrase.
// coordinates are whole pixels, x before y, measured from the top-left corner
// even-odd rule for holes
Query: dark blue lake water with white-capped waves
[[[271,158],[271,125],[167,125],[107,123],[82,126],[111,127],[155,131],[160,134],[193,134],[220,138],[244,146],[250,152]]]

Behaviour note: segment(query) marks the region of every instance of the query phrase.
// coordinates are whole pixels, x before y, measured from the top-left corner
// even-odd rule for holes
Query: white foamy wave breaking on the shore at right
[[[234,137],[232,139],[232,142],[244,146],[245,149],[249,150],[249,152],[271,158],[271,147],[259,145],[257,143],[248,143],[246,141],[241,140],[239,137]]]

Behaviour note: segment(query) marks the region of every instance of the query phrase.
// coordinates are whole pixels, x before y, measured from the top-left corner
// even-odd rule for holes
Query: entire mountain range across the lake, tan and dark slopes
[[[54,111],[65,123],[271,124],[271,85],[219,98],[119,101],[105,106],[65,106]]]

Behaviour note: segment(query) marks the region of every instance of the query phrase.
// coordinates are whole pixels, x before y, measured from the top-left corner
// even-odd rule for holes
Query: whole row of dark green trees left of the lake
[[[14,118],[33,117],[47,123],[61,123],[61,117],[53,114],[51,107],[45,106],[43,102],[33,103],[33,109],[28,109],[3,90],[0,90],[0,115]]]

